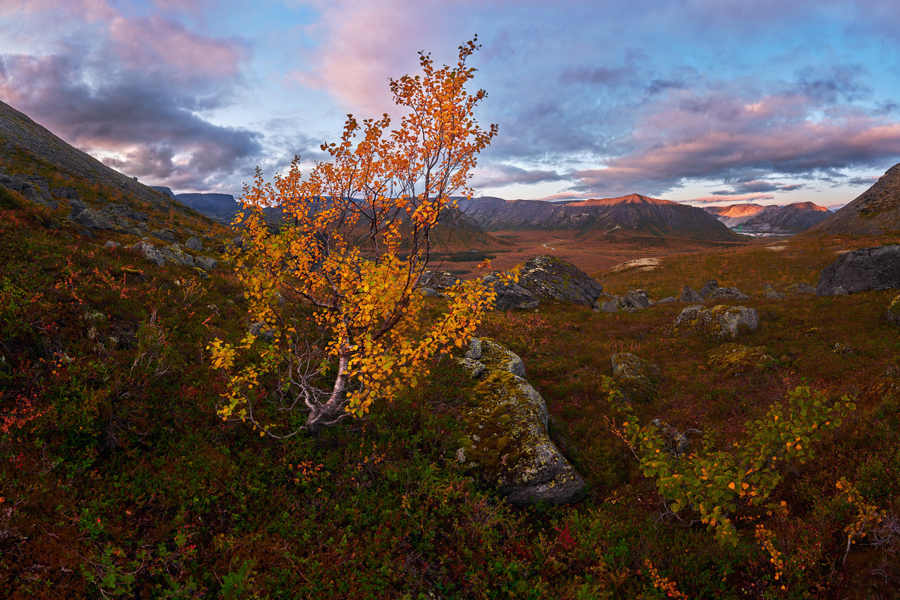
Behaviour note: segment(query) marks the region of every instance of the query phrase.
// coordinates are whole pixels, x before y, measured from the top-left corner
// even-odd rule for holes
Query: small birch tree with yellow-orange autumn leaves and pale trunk
[[[473,118],[484,90],[465,89],[475,71],[466,59],[477,48],[465,43],[455,67],[437,69],[419,53],[422,76],[391,80],[394,101],[409,110],[399,129],[389,130],[387,114],[362,123],[348,115],[340,142],[321,147],[331,160],[305,177],[297,157],[274,184],[257,168],[238,216],[244,241],[231,260],[250,318],[266,335],[209,346],[229,383],[221,418],[276,438],[337,425],[418,385],[436,354],[473,336],[493,306],[491,286],[455,286],[437,319],[425,318],[416,287],[432,229],[455,209],[453,196],[471,197],[470,170],[497,134]],[[264,219],[272,207],[284,213],[276,232]],[[273,409],[305,412],[305,422],[276,425]]]

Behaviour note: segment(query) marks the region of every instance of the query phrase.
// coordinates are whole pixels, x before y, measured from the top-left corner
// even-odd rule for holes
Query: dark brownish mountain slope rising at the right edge
[[[900,229],[900,164],[887,169],[854,201],[810,229],[824,235],[881,235]]]

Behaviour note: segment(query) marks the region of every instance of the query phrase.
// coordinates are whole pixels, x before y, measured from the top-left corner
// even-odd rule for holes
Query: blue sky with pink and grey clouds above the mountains
[[[475,195],[837,208],[900,162],[896,0],[0,0],[0,100],[175,193],[325,160],[478,36]]]

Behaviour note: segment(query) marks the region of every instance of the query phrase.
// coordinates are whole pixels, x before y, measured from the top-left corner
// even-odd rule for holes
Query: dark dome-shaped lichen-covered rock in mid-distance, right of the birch
[[[540,255],[529,260],[519,272],[518,284],[538,300],[562,300],[593,306],[603,286],[572,263],[554,256]]]

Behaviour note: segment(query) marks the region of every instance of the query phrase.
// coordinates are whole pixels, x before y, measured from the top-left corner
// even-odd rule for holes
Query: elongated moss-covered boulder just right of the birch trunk
[[[482,338],[460,363],[480,381],[464,411],[457,460],[512,504],[580,500],[584,479],[550,440],[544,399],[523,378],[518,355]]]

